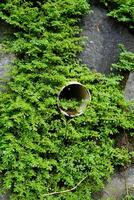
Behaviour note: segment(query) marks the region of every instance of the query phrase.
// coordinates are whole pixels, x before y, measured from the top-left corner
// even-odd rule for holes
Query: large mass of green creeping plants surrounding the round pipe
[[[10,190],[12,200],[89,200],[131,158],[114,141],[134,130],[120,78],[91,72],[77,59],[78,23],[88,10],[86,0],[0,3],[1,19],[16,29],[6,41],[16,60],[8,91],[0,94],[0,192]],[[83,115],[67,119],[57,94],[74,79],[92,100]]]

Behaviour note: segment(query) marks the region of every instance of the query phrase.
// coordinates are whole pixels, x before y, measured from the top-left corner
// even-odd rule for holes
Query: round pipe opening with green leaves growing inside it
[[[78,82],[71,82],[63,87],[58,95],[60,111],[69,117],[79,116],[84,112],[90,100],[89,91]]]

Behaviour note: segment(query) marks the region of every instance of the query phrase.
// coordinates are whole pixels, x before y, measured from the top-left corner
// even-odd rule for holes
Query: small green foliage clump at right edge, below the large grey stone
[[[119,71],[134,71],[134,53],[127,51],[124,46],[120,46],[121,53],[119,61],[112,65],[113,69]]]

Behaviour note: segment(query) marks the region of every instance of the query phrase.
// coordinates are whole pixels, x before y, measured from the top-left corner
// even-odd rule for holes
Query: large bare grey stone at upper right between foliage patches
[[[96,3],[97,4],[97,3]],[[120,23],[107,16],[107,11],[98,5],[83,18],[82,36],[86,37],[82,62],[90,69],[108,74],[111,64],[119,57],[119,44],[134,52],[134,36]]]

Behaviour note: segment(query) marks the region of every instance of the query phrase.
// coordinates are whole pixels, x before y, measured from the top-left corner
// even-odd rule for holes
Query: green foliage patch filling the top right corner
[[[134,28],[134,1],[133,0],[101,0],[110,7],[109,16],[120,22],[125,22],[130,28]]]

